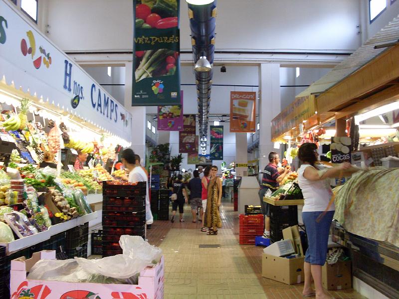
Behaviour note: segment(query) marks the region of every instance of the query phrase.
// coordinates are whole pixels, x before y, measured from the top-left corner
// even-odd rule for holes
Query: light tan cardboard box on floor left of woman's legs
[[[262,254],[262,276],[287,285],[304,281],[304,257],[287,259]]]

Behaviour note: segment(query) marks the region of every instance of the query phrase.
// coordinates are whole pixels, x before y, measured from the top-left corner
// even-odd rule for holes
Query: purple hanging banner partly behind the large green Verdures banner
[[[158,131],[183,130],[183,91],[180,102],[180,105],[158,106]]]

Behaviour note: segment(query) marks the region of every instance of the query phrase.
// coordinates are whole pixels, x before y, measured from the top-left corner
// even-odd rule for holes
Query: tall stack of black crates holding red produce
[[[103,257],[121,254],[121,235],[145,239],[146,182],[137,185],[103,183]]]

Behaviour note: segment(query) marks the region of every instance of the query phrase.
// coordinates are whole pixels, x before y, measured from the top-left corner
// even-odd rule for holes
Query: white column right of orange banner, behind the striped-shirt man
[[[279,152],[271,142],[270,122],[280,111],[280,64],[262,63],[259,69],[259,171],[269,163],[270,151]]]

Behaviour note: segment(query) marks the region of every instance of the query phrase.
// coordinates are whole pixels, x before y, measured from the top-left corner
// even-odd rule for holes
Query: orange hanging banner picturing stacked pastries
[[[230,92],[230,132],[255,132],[256,92]]]

